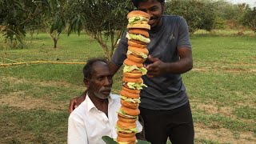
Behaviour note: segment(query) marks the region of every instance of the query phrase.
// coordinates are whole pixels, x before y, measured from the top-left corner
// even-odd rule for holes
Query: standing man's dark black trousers
[[[174,110],[148,110],[142,107],[140,118],[143,121],[146,140],[152,144],[193,144],[194,125],[190,102]]]

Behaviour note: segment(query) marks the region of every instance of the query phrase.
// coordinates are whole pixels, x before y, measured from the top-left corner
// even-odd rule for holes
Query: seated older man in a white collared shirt
[[[110,94],[112,75],[107,62],[91,59],[83,68],[86,99],[71,114],[68,122],[68,143],[100,144],[102,136],[117,138],[115,124],[118,121],[120,97]],[[138,132],[142,126],[137,121]]]

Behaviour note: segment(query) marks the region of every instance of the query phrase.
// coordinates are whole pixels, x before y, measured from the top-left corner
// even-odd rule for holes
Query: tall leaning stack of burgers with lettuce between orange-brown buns
[[[123,85],[120,91],[121,104],[118,111],[117,142],[136,143],[135,134],[138,132],[136,121],[138,119],[138,105],[140,103],[139,93],[143,84],[142,75],[146,74],[143,62],[149,54],[146,49],[150,42],[150,15],[140,10],[131,11],[128,15],[127,34],[128,50],[124,61]]]

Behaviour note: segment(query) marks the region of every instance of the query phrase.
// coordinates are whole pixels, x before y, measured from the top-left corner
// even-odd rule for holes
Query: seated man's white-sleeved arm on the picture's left
[[[86,126],[82,119],[75,114],[70,114],[68,122],[68,134],[67,134],[68,144],[84,143],[88,144]]]

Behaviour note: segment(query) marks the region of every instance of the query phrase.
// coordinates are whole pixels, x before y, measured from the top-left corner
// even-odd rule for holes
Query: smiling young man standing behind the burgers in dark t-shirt
[[[144,121],[146,140],[152,144],[194,143],[194,125],[189,98],[181,74],[193,67],[192,50],[186,20],[179,16],[162,15],[164,0],[132,0],[138,10],[150,14],[149,58],[144,63],[147,74],[142,76],[148,86],[140,93],[139,109]],[[115,74],[126,58],[126,33],[109,64]],[[78,102],[79,103],[79,102]],[[76,105],[70,102],[70,110]]]

